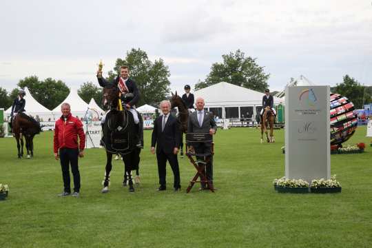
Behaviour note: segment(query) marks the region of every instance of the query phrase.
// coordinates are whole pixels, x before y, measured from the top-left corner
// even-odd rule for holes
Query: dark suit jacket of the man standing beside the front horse
[[[154,130],[152,130],[151,146],[155,147],[158,154],[163,150],[165,154],[173,153],[174,147],[180,145],[180,128],[177,119],[169,114],[165,123],[164,131],[161,131],[163,115],[158,116],[154,121]]]

